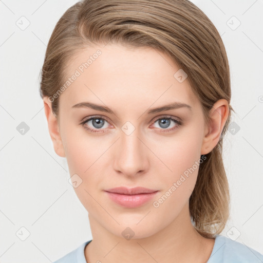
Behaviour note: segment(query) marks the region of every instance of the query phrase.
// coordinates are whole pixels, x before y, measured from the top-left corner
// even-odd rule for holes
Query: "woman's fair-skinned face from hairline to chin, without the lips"
[[[183,71],[152,48],[98,45],[69,65],[59,128],[76,194],[89,218],[114,235],[127,227],[134,238],[157,233],[178,217],[196,183],[205,154],[199,100]],[[74,106],[80,103],[97,106]],[[189,106],[164,107],[174,103]],[[118,186],[158,192],[126,207],[105,192]]]

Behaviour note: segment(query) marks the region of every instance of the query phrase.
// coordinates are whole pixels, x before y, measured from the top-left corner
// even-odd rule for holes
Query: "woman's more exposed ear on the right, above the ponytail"
[[[225,99],[218,100],[210,110],[209,125],[205,128],[203,143],[201,147],[201,155],[210,153],[217,145],[224,124],[229,116],[229,105]]]

